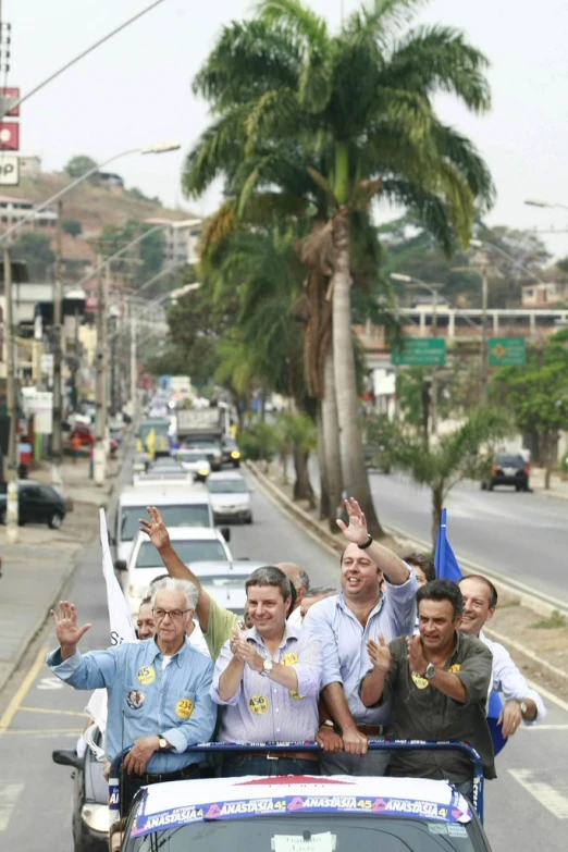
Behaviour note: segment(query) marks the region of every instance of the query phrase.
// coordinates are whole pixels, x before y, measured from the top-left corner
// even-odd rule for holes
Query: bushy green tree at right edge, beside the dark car
[[[524,367],[503,367],[491,395],[513,411],[523,433],[536,436],[548,489],[558,433],[568,421],[568,330],[554,334],[542,348],[531,347]]]

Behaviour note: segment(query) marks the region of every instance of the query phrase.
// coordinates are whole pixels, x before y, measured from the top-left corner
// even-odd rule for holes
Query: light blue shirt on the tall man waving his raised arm
[[[351,716],[361,725],[386,725],[391,718],[387,704],[366,707],[359,697],[361,678],[371,668],[367,642],[376,640],[379,633],[387,642],[403,634],[411,635],[416,619],[418,584],[413,571],[402,585],[386,586],[388,591],[381,595],[365,627],[347,606],[343,592],[318,601],[304,619],[302,629],[320,640],[321,689],[342,683]]]

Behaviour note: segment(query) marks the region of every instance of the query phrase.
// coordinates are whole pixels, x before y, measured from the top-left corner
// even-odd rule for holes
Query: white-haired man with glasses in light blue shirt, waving
[[[153,639],[85,655],[77,643],[90,625],[78,627],[66,601],[59,617],[52,612],[60,646],[48,654],[48,666],[74,689],[108,690],[110,761],[133,746],[124,761],[123,803],[143,785],[199,776],[203,756],[185,750],[210,740],[217,707],[209,695],[213,664],[185,635],[196,600],[192,583],[161,580],[152,589]]]

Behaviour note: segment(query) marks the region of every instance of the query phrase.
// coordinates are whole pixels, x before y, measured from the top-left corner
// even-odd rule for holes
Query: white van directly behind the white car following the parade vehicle
[[[180,484],[153,483],[148,487],[126,487],[119,497],[114,538],[114,567],[126,570],[132,548],[140,524],[139,518],[148,517],[147,506],[157,506],[168,529],[175,527],[213,527],[213,510],[209,492],[202,485],[183,487]]]

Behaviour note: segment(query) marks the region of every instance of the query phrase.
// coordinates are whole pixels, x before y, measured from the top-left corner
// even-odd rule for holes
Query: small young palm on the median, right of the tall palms
[[[391,458],[417,484],[430,489],[433,548],[447,495],[462,479],[478,479],[485,471],[486,459],[480,454],[483,444],[504,437],[510,431],[508,418],[492,408],[478,409],[459,429],[443,435],[436,446],[425,446],[421,436],[398,428]]]

